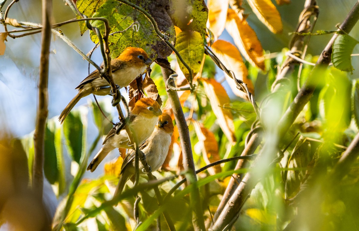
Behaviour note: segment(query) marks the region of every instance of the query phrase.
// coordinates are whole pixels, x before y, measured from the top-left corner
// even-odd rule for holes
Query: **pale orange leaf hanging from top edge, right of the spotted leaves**
[[[229,0],[208,0],[208,24],[209,29],[217,39],[223,32],[227,19]]]

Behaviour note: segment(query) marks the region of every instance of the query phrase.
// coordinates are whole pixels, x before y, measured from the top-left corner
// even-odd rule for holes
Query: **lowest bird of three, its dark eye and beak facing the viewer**
[[[146,156],[146,162],[151,167],[151,171],[158,170],[166,159],[171,137],[173,134],[172,118],[167,113],[159,116],[158,123],[155,126],[151,136],[140,146],[140,150]],[[121,176],[118,181],[115,194],[113,197],[122,193],[123,187],[127,180],[135,174],[134,168],[135,151],[129,152],[122,162]],[[145,173],[143,165],[139,163],[140,172]],[[132,179],[131,179],[132,180]]]

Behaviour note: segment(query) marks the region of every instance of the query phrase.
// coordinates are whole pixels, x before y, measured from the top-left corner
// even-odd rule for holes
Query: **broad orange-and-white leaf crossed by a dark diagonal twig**
[[[241,53],[239,53],[237,47],[233,46],[231,43],[217,40],[211,46],[213,53],[218,57],[220,61],[224,64],[224,66],[228,70],[232,70],[237,79],[242,80],[247,84],[249,91],[254,94],[253,83],[250,79],[247,78],[248,71],[246,65],[243,63],[243,59]],[[247,94],[240,91],[234,80],[229,77],[227,74],[225,75],[227,82],[232,89],[233,93],[236,96],[247,99]]]

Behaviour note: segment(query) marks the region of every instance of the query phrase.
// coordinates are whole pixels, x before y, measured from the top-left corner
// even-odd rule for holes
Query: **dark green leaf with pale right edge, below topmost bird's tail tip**
[[[87,111],[71,111],[64,121],[66,148],[73,161],[80,163],[86,150]]]

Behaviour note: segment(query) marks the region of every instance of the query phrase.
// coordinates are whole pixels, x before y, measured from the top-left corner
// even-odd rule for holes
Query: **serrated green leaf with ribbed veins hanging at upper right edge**
[[[339,34],[333,43],[332,62],[335,68],[342,71],[353,71],[351,53],[359,42],[347,34]]]

